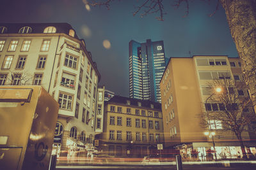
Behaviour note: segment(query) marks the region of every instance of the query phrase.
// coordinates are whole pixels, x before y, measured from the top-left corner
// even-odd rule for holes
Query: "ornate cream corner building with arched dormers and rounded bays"
[[[0,24],[0,85],[41,85],[58,101],[54,146],[68,159],[92,147],[99,80],[71,25]]]

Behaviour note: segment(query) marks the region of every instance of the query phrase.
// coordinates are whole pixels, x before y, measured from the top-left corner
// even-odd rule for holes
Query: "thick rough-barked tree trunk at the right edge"
[[[256,110],[256,0],[220,0]]]

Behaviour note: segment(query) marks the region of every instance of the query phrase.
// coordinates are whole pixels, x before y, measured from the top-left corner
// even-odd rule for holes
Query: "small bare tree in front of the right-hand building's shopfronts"
[[[201,120],[200,125],[205,129],[211,129],[214,124],[216,129],[234,132],[241,146],[243,157],[246,158],[241,134],[255,120],[255,114],[250,97],[241,94],[244,92],[240,90],[244,89],[243,83],[221,79],[209,83],[209,87],[212,87],[212,90],[220,87],[222,90],[219,94],[210,96],[209,103],[205,103],[206,111],[198,115]]]

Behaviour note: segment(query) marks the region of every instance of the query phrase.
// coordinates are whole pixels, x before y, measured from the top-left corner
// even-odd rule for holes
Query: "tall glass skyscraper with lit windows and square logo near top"
[[[166,66],[164,42],[129,42],[129,97],[161,103],[159,83]]]

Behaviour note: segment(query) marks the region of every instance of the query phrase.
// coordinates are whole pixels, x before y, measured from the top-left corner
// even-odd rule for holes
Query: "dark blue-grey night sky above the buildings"
[[[155,14],[133,17],[136,0],[115,1],[111,10],[104,6],[87,10],[82,0],[1,0],[0,22],[67,22],[92,52],[101,74],[99,85],[128,97],[131,39],[140,43],[163,40],[166,57],[189,57],[189,51],[191,55],[238,56],[223,8],[209,17],[216,1],[193,1],[188,17],[183,17],[185,4],[176,9],[173,1],[166,1],[168,14],[162,22]],[[110,42],[110,48],[108,41],[107,48],[103,46],[104,40]]]

